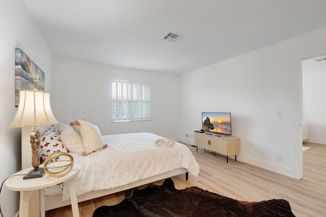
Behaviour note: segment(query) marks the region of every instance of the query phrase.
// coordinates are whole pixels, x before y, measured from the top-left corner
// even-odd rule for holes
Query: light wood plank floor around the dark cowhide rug
[[[311,149],[303,152],[303,179],[296,180],[268,170],[264,170],[241,161],[210,151],[204,151],[187,145],[193,152],[200,173],[196,178],[189,174],[188,181],[184,175],[172,177],[175,187],[198,186],[229,198],[241,201],[262,201],[285,199],[296,216],[326,216],[326,145],[304,143]],[[163,180],[154,184],[162,184]],[[145,186],[143,186],[145,187]],[[121,202],[124,193],[108,195],[79,203],[80,217],[90,217],[93,211],[103,205]],[[70,217],[70,206],[49,210],[48,217]]]

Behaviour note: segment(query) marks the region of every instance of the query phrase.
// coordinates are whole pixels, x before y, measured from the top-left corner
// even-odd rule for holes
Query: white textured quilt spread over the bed
[[[74,178],[77,196],[122,186],[177,168],[185,168],[198,176],[199,165],[186,146],[174,142],[172,148],[156,147],[154,142],[157,139],[162,137],[152,133],[104,135],[108,148],[88,156],[70,153],[81,167]],[[69,198],[68,184],[64,184],[62,200]]]

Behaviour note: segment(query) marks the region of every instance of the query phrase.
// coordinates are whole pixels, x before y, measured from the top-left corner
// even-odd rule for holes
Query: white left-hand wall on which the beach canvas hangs
[[[20,170],[20,128],[8,125],[15,108],[15,47],[21,48],[44,72],[45,88],[50,90],[49,49],[22,0],[0,2],[0,165],[1,182]],[[29,141],[29,138],[27,138]],[[25,153],[31,155],[31,153]],[[19,194],[3,187],[0,195],[4,216],[18,212]]]

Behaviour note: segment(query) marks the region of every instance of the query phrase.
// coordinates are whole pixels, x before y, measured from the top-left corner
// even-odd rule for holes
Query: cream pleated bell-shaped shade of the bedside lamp
[[[36,127],[58,123],[50,106],[50,94],[44,91],[19,91],[19,104],[10,127]]]

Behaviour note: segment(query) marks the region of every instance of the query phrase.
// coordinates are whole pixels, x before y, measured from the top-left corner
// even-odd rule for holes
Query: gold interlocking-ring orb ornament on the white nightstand
[[[53,159],[56,159],[60,156],[66,156],[68,159],[63,160],[56,160],[52,161]],[[66,158],[65,157],[65,158]],[[65,175],[67,175],[71,170],[73,166],[73,157],[63,151],[56,151],[52,154],[48,155],[44,160],[44,171],[48,176],[60,178]]]

